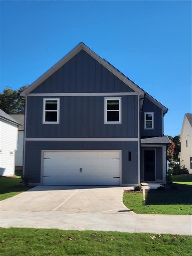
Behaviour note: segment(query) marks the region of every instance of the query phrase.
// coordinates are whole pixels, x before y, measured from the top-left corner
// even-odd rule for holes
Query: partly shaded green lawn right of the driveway
[[[140,214],[191,214],[191,174],[172,175],[172,180],[171,187],[177,189],[149,190],[146,193],[146,206],[140,193],[124,193],[123,202]]]

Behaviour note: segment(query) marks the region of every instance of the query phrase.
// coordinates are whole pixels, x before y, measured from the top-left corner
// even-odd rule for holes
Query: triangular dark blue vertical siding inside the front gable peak
[[[134,92],[81,50],[30,93]]]

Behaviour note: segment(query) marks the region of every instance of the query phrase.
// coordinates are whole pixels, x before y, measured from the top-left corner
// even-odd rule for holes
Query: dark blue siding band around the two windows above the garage
[[[113,96],[115,97],[115,96]],[[42,124],[43,97],[27,97],[26,138],[138,137],[138,96],[121,97],[122,123],[104,124],[105,96],[62,96],[59,124]]]

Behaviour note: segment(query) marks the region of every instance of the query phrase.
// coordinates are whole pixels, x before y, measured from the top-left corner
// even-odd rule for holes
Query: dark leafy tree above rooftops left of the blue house
[[[25,101],[21,99],[20,93],[24,91],[28,85],[21,86],[18,90],[7,87],[0,94],[0,109],[7,114],[24,114]]]

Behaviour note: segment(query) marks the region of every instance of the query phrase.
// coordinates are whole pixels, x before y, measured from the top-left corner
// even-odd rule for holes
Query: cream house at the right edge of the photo
[[[180,164],[185,166],[189,173],[192,173],[191,120],[192,114],[185,114],[180,136],[181,152],[179,152]]]

